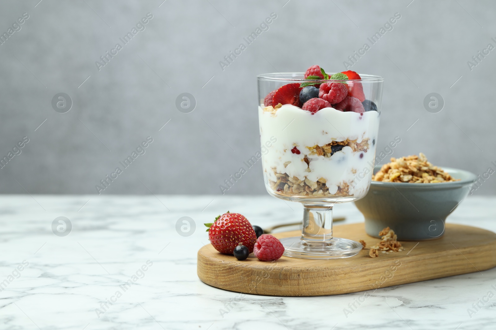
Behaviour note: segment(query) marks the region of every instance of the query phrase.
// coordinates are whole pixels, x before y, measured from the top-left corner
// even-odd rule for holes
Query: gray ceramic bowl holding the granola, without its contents
[[[374,173],[380,169],[376,166]],[[365,216],[365,231],[378,233],[390,227],[399,240],[427,240],[444,234],[444,221],[470,192],[476,175],[442,167],[455,182],[434,184],[372,181],[369,193],[355,201]]]

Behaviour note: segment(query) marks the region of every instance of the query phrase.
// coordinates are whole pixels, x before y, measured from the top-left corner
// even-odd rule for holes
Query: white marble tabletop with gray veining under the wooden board
[[[269,196],[0,196],[0,329],[496,328],[496,296],[487,296],[496,269],[370,291],[347,316],[363,293],[237,302],[196,276],[203,223],[228,209],[262,227],[302,213]],[[335,209],[363,221],[353,204]],[[67,236],[52,232],[60,216],[72,224]],[[184,216],[196,224],[190,236],[175,229]],[[468,198],[448,221],[496,231],[496,197]]]

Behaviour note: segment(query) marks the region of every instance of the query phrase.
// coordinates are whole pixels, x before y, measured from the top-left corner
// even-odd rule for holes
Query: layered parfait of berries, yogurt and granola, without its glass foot
[[[379,126],[374,91],[367,99],[366,80],[354,71],[329,76],[313,65],[304,78],[260,100],[260,141],[276,140],[262,155],[266,187],[283,196],[361,198]]]

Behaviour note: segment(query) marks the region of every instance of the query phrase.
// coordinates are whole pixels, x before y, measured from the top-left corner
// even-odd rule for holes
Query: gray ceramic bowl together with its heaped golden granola
[[[477,179],[465,170],[434,166],[422,153],[392,159],[375,170],[369,193],[355,201],[365,217],[365,231],[378,237],[381,229],[390,226],[402,240],[442,237],[446,218]]]

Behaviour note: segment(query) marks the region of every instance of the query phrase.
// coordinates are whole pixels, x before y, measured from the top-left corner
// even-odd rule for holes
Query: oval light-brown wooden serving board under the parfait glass
[[[275,296],[320,296],[358,292],[447,276],[480,272],[496,266],[496,234],[484,229],[446,224],[444,236],[430,241],[401,241],[402,252],[369,257],[380,241],[364,224],[335,226],[334,235],[363,239],[354,257],[331,260],[283,256],[277,261],[247,260],[217,252],[211,244],[198,251],[198,277],[209,285],[236,292]],[[299,236],[298,231],[274,234]],[[418,243],[418,244],[417,244]]]

